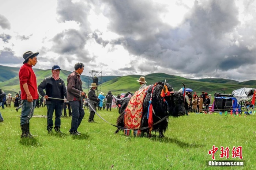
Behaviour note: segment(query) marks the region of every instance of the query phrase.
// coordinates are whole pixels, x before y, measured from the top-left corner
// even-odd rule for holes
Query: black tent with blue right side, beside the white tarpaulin
[[[219,112],[241,112],[241,106],[239,105],[235,97],[214,97],[212,107],[209,111],[219,111]]]

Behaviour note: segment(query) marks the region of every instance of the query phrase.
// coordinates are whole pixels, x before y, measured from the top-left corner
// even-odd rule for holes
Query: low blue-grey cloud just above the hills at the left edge
[[[1,64],[20,64],[24,61],[22,57],[15,56],[11,49],[0,50]]]

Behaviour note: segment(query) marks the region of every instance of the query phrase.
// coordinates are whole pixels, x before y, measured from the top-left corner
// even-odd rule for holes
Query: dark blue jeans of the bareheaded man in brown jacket
[[[77,131],[84,117],[83,105],[80,101],[69,101],[72,110],[71,129],[69,132]]]

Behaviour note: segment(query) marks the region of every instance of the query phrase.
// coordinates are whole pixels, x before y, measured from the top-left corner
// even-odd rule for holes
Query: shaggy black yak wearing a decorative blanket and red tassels
[[[173,88],[169,85],[166,84],[167,86],[167,91],[165,93],[167,95],[164,95],[163,97],[161,96],[163,87],[165,83],[163,82],[157,82],[154,90],[153,90],[153,95],[152,95],[152,100],[151,104],[153,107],[153,123],[156,123],[157,121],[161,120],[163,117],[166,117],[163,121],[161,121],[158,124],[153,125],[153,131],[159,132],[159,137],[163,137],[163,132],[166,131],[168,127],[168,117],[173,116],[173,117],[178,117],[178,116],[183,116],[185,115],[185,108],[184,108],[184,96],[181,92],[174,92]],[[141,123],[140,127],[148,127],[148,119],[147,119],[147,112],[148,112],[148,107],[149,107],[149,102],[151,98],[151,92],[152,92],[153,85],[148,87],[146,96],[144,97],[143,101],[143,114],[141,118]],[[185,86],[184,86],[185,89]],[[121,114],[117,118],[117,126],[120,127],[125,127],[125,122],[124,122],[124,117],[125,117],[125,108],[127,107],[129,100],[131,98],[126,98],[123,101],[123,104],[121,106]],[[115,133],[118,133],[120,128],[116,130]],[[151,135],[150,130],[144,129],[141,130],[142,134],[144,132],[147,132],[148,136]]]

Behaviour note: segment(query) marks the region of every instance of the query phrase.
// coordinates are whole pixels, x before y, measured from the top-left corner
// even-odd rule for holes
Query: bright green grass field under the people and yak
[[[20,111],[0,110],[0,169],[256,169],[256,116],[195,114],[169,119],[164,138],[153,133],[152,138],[124,136],[115,127],[95,115],[97,123],[88,123],[89,111],[78,129],[81,136],[71,136],[71,118],[61,118],[61,131],[49,135],[46,118],[33,117],[30,129],[34,139],[20,139]],[[99,111],[104,119],[115,124],[117,109]],[[34,115],[46,115],[45,108],[35,108]],[[206,167],[208,151],[215,145],[216,160],[239,161],[232,158],[233,146],[242,146],[244,167]],[[229,147],[228,159],[220,158],[221,146]]]

